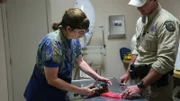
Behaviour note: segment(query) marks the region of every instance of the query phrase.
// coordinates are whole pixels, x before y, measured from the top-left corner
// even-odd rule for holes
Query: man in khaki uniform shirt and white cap
[[[180,23],[158,0],[130,0],[142,17],[136,25],[136,47],[127,72],[120,77],[125,85],[130,76],[140,78],[128,86],[123,98],[141,93],[149,101],[173,101],[172,73],[176,60]]]

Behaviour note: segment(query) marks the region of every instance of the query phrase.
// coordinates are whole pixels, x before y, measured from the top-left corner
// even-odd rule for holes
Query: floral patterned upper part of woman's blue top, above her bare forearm
[[[59,74],[71,78],[72,68],[81,46],[78,39],[67,39],[60,30],[47,34],[39,43],[36,65],[44,72],[44,66],[59,68]]]

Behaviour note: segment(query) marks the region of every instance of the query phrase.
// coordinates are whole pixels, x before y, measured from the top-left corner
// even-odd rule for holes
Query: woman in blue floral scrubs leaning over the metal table
[[[74,65],[95,80],[106,81],[83,60],[79,38],[88,31],[89,20],[78,8],[67,10],[58,30],[47,34],[39,43],[36,65],[24,96],[27,101],[64,101],[67,91],[92,95],[96,89],[71,83]]]

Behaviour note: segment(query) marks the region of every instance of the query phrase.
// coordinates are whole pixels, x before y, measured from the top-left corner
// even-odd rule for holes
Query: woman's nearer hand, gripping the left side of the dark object
[[[85,96],[91,96],[95,93],[96,90],[98,90],[98,88],[92,88],[90,89],[91,87],[93,86],[93,84],[89,85],[89,86],[86,86],[86,87],[82,87],[81,90],[80,90],[80,94],[81,95],[85,95]]]

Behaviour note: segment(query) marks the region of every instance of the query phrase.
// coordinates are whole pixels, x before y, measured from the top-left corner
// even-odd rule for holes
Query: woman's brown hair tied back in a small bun
[[[88,29],[89,24],[89,19],[81,9],[70,8],[65,11],[59,24],[53,23],[52,29],[57,30],[59,25],[62,25],[63,28],[70,26],[72,29]]]

